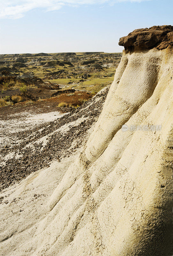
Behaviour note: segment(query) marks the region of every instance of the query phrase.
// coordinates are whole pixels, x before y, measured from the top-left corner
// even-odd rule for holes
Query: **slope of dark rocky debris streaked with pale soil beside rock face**
[[[81,107],[47,124],[24,130],[20,125],[20,132],[12,132],[8,136],[2,125],[1,136],[7,136],[7,141],[4,139],[0,143],[0,188],[49,166],[52,160],[74,153],[98,119],[107,92],[108,88],[105,88]]]

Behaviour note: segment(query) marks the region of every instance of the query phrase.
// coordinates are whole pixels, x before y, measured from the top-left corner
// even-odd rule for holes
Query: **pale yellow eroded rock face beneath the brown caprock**
[[[82,152],[44,199],[41,218],[29,209],[30,224],[25,215],[6,221],[0,255],[173,255],[172,149],[173,52],[124,52]],[[43,177],[42,190],[50,181],[47,171]],[[11,196],[27,197],[31,184],[38,178]]]

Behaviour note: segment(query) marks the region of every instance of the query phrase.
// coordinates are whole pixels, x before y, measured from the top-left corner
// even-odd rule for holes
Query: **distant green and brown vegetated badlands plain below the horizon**
[[[16,56],[4,55],[1,60],[7,61],[8,66],[0,65],[0,98],[9,96],[12,103],[32,99],[46,104],[46,99],[63,93],[53,90],[88,92],[89,97],[84,93],[79,99],[69,91],[65,96],[71,99],[62,97],[56,101],[60,106],[76,108],[112,83],[121,56],[121,53],[104,52],[23,54],[19,55],[20,63]]]

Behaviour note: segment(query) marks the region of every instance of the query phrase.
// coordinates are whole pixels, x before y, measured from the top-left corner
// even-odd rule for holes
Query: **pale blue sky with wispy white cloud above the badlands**
[[[172,13],[173,0],[0,0],[0,53],[122,52],[120,37]]]

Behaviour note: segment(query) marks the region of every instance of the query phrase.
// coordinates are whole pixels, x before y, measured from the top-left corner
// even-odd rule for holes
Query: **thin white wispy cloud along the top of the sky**
[[[64,5],[105,4],[116,2],[142,2],[148,0],[0,0],[0,18],[19,19],[34,9],[55,11]]]

